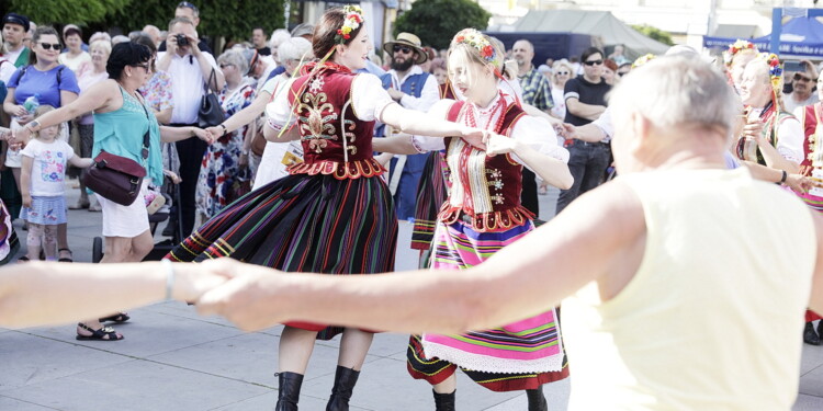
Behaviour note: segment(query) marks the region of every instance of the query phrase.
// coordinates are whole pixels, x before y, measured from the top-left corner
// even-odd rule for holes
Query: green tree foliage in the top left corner
[[[102,21],[106,14],[124,9],[129,0],[8,0],[0,14],[23,14],[37,24],[66,24]]]

